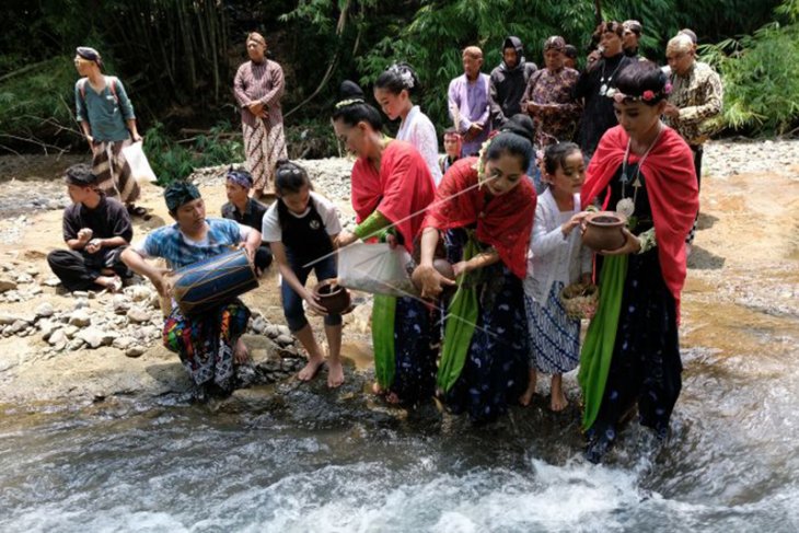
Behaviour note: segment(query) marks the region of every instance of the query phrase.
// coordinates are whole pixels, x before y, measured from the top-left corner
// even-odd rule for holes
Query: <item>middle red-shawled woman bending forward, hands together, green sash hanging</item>
[[[524,175],[533,158],[532,123],[519,129],[497,135],[479,159],[459,160],[444,174],[414,271],[426,298],[458,285],[447,308],[437,384],[450,408],[468,412],[475,422],[503,414],[528,384],[522,279],[535,213],[535,190]],[[441,240],[456,282],[433,268]]]

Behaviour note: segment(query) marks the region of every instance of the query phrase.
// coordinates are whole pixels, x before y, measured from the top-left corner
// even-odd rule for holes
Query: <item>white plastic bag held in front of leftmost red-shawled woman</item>
[[[410,273],[414,260],[403,246],[355,243],[338,252],[338,285],[391,297],[419,296]]]

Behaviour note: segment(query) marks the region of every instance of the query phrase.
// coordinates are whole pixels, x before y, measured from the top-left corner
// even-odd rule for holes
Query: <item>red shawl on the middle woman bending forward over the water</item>
[[[477,240],[494,246],[519,278],[528,271],[528,246],[535,216],[535,189],[522,177],[509,193],[494,198],[477,184],[477,158],[455,161],[444,174],[428,210],[424,228],[445,231],[477,223]],[[488,204],[486,200],[489,199]]]

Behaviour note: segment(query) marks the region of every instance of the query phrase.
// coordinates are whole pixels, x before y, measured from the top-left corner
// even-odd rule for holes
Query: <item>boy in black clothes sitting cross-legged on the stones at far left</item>
[[[63,211],[63,240],[69,250],[56,250],[47,263],[68,290],[121,288],[119,275],[128,269],[120,255],[134,236],[125,206],[106,198],[97,176],[85,164],[72,165],[65,176],[72,205]]]

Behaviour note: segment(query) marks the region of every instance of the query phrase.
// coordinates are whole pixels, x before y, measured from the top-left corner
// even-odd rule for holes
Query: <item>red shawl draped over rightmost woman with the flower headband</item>
[[[588,177],[582,186],[582,206],[588,206],[605,192],[602,200],[606,208],[610,199],[609,183],[624,162],[629,136],[624,128],[609,129],[588,166]],[[640,159],[629,154],[629,162]],[[640,166],[647,181],[647,194],[652,208],[655,236],[658,241],[658,258],[665,286],[674,297],[678,316],[680,293],[685,283],[685,237],[699,210],[699,187],[696,182],[694,158],[680,135],[664,126],[658,143]]]

